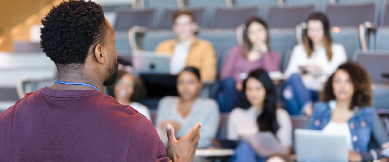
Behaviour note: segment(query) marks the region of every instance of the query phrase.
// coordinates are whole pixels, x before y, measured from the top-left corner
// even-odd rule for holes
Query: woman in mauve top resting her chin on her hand
[[[231,111],[237,106],[242,81],[250,71],[258,68],[279,71],[280,58],[277,52],[271,51],[268,38],[265,21],[258,17],[249,19],[243,46],[233,47],[223,66],[221,87],[216,96],[221,111]]]

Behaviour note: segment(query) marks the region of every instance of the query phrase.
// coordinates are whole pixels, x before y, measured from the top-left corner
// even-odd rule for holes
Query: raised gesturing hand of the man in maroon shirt
[[[192,131],[186,136],[177,140],[174,135],[172,125],[166,125],[168,134],[168,155],[173,162],[191,162],[196,153],[198,139],[200,138],[200,127],[202,123],[197,123]]]

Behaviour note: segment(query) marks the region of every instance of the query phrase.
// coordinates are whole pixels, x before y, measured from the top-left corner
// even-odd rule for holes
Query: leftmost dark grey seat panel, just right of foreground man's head
[[[117,7],[114,30],[129,30],[133,26],[154,27],[155,9],[132,10],[128,7]]]

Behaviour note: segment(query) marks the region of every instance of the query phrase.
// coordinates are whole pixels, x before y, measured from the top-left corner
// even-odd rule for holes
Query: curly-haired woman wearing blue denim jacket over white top
[[[311,129],[346,137],[351,162],[380,159],[382,148],[389,147],[388,134],[370,107],[371,95],[368,72],[357,63],[346,62],[328,78],[323,102],[315,104],[310,118]]]

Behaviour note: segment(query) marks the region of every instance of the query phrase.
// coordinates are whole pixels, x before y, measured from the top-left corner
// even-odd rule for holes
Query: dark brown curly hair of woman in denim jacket
[[[371,106],[372,92],[369,73],[360,64],[351,61],[341,64],[338,67],[338,70],[347,71],[351,78],[351,82],[354,85],[354,95],[352,96],[350,109],[353,110],[356,106],[359,108]],[[335,73],[333,73],[324,84],[324,90],[321,94],[322,101],[328,102],[335,99],[332,87]]]

